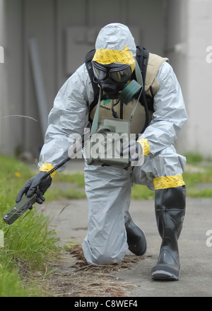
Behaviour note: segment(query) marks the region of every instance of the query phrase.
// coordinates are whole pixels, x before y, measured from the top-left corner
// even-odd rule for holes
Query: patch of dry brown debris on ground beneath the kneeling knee
[[[136,285],[117,278],[116,272],[129,270],[143,259],[144,256],[126,255],[120,263],[93,266],[84,259],[81,245],[76,245],[54,264],[53,269],[57,270],[42,286],[54,297],[127,297]]]

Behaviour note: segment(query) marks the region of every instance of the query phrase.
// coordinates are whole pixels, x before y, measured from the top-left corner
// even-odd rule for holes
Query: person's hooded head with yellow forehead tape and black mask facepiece
[[[112,23],[100,30],[95,43],[93,69],[96,81],[107,98],[119,98],[131,79],[135,59],[134,37],[126,25]]]

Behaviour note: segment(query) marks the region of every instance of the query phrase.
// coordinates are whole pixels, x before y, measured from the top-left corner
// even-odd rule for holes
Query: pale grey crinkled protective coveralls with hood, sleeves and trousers
[[[100,30],[95,48],[122,50],[126,46],[135,59],[136,45],[129,28],[113,23]],[[154,97],[155,112],[144,132],[150,151],[143,165],[124,170],[85,163],[88,234],[83,242],[83,253],[90,264],[112,264],[124,258],[128,249],[124,213],[129,210],[133,183],[155,190],[155,184],[158,189],[163,188],[163,177],[174,177],[174,180],[179,177],[181,182],[186,159],[176,153],[174,141],[187,120],[187,112],[170,64],[165,61],[156,78],[159,89]],[[88,105],[91,102],[93,87],[86,64],[83,64],[64,83],[54,100],[39,168],[43,163],[55,166],[67,158],[69,135],[83,135],[88,126]]]

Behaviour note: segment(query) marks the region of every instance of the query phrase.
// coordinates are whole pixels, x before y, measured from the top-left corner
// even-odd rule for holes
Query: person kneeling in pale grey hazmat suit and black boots
[[[105,265],[122,261],[127,249],[136,255],[146,252],[143,230],[129,214],[131,186],[133,183],[143,184],[155,191],[155,217],[162,238],[158,262],[151,271],[151,277],[178,280],[180,265],[177,240],[185,213],[182,173],[186,158],[177,154],[174,142],[187,120],[187,112],[175,73],[168,59],[149,53],[145,93],[153,93],[153,112],[149,112],[148,126],[141,134],[146,119],[143,105],[140,102],[136,105],[136,99],[131,99],[128,105],[117,101],[117,96],[132,80],[136,69],[136,45],[126,25],[112,23],[100,30],[91,64],[95,83],[100,92],[106,95],[106,99],[100,103],[99,119],[129,119],[129,111],[136,106],[130,125],[130,132],[136,133],[136,140],[125,142],[122,154],[129,152],[131,155],[130,148],[134,147],[136,155],[143,156],[143,162],[141,165],[119,168],[116,165],[88,164],[86,158],[84,174],[88,197],[88,233],[83,241],[83,254],[89,264]],[[17,202],[23,194],[31,196],[35,193],[37,186],[45,194],[56,172],[42,182],[41,177],[67,157],[69,136],[83,135],[88,127],[89,115],[90,119],[94,117],[96,107],[89,112],[93,100],[93,83],[86,64],[83,64],[64,83],[54,100],[45,144],[40,153],[40,172],[20,190]],[[42,204],[44,200],[40,195],[37,203]]]

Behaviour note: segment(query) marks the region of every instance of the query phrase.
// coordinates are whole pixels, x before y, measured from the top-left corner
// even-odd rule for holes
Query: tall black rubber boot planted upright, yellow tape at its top
[[[155,216],[162,238],[156,266],[151,271],[155,280],[179,280],[179,235],[184,221],[186,187],[158,189],[155,192]]]

